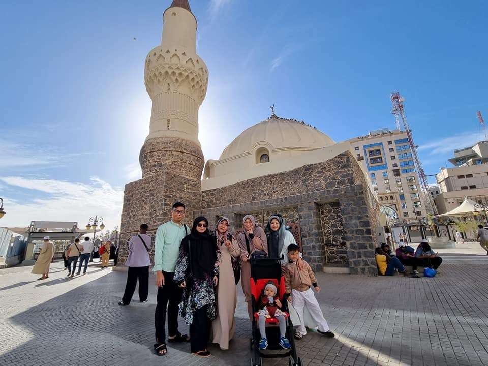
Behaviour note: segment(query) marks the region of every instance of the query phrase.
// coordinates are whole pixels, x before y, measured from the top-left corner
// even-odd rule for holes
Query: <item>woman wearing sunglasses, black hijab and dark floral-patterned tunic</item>
[[[174,282],[184,288],[179,313],[190,325],[192,353],[209,357],[210,321],[216,318],[215,290],[219,282],[217,240],[208,231],[208,220],[195,219],[192,230],[181,241]]]

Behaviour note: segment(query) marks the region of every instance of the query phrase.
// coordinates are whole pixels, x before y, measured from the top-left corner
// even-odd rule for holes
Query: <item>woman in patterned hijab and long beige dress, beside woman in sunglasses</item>
[[[218,343],[223,350],[229,349],[229,341],[235,333],[237,293],[232,260],[238,259],[240,255],[237,241],[229,233],[229,226],[230,220],[224,217],[217,221],[215,229],[220,276],[217,287],[217,318],[212,321],[211,339],[212,343]]]

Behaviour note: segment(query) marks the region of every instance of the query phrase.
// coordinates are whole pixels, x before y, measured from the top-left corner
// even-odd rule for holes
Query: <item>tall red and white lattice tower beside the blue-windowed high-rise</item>
[[[410,150],[412,151],[413,162],[415,167],[417,168],[418,176],[420,179],[420,186],[425,196],[425,203],[427,205],[427,211],[433,212],[434,215],[437,215],[436,205],[432,201],[432,197],[429,194],[429,184],[427,183],[427,176],[425,175],[425,171],[423,170],[422,163],[418,158],[417,153],[417,145],[413,142],[412,130],[407,123],[407,118],[405,117],[405,111],[403,108],[403,101],[405,100],[403,97],[400,96],[399,92],[393,92],[390,96],[391,104],[393,108],[391,109],[391,113],[395,115],[396,119],[396,128],[400,129],[400,125],[403,124],[405,128],[405,132],[407,133],[408,142],[410,144]],[[429,210],[430,209],[430,210]]]

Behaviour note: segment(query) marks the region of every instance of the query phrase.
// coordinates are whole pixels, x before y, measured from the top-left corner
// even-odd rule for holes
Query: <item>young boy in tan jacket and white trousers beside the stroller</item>
[[[304,308],[307,308],[310,315],[318,325],[317,332],[325,335],[326,337],[335,337],[335,334],[330,331],[327,321],[322,314],[319,303],[314,296],[314,292],[311,289],[313,285],[315,291],[320,292],[320,287],[317,284],[314,272],[310,265],[303,260],[304,267],[302,270],[298,269],[296,261],[300,258],[299,248],[296,244],[290,244],[288,246],[288,259],[289,263],[286,263],[283,272],[285,275],[285,289],[287,294],[291,294],[288,297],[288,301],[292,301],[293,306],[300,317],[301,324],[298,326],[295,333],[295,339],[301,339],[307,334],[305,325],[303,322]]]

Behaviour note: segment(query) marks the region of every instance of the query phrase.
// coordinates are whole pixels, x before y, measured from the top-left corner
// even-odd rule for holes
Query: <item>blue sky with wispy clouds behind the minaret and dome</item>
[[[2,225],[84,225],[94,215],[119,224],[149,129],[143,63],[170,3],[0,3]],[[279,116],[335,141],[393,129],[393,90],[406,99],[427,174],[484,138],[476,111],[488,119],[485,2],[190,4],[210,73],[200,108],[205,159],[273,103]]]

